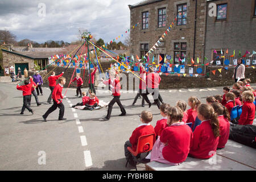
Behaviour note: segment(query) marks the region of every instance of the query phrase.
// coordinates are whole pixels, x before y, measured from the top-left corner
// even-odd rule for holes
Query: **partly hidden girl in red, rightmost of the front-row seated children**
[[[213,103],[214,112],[218,114],[218,123],[220,125],[220,138],[218,139],[218,149],[224,148],[229,139],[230,115],[228,109],[219,103]]]

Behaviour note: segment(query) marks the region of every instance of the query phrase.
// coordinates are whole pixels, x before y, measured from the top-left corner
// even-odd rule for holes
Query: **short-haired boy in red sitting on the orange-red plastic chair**
[[[125,157],[131,166],[135,166],[136,163],[133,160],[133,155],[131,155],[127,148],[131,147],[133,148],[133,151],[136,151],[139,137],[143,135],[155,134],[154,127],[150,125],[150,122],[153,119],[152,113],[150,113],[150,111],[144,110],[142,111],[140,118],[142,124],[133,131],[130,139],[125,142]]]

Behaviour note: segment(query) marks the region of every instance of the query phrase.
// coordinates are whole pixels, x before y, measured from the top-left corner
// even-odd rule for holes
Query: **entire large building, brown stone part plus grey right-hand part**
[[[216,15],[210,14],[213,10],[210,3],[214,3]],[[226,49],[229,53],[225,56],[233,55],[234,50],[236,56],[240,56],[239,52],[243,56],[246,51],[256,49],[255,5],[255,0],[146,0],[129,5],[130,52],[144,56],[177,18],[172,30],[154,51],[155,60],[159,60],[159,55],[170,55],[174,63],[179,63],[180,57],[190,64],[191,58],[196,61],[199,57],[200,63],[205,64],[221,59],[221,50],[226,52]],[[134,28],[136,22],[140,23]],[[252,64],[255,58],[250,59]]]

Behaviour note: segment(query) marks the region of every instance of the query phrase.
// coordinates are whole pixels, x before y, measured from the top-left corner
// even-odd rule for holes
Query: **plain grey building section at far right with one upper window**
[[[216,16],[212,16],[216,5]],[[246,51],[256,51],[256,1],[255,0],[216,0],[207,2],[206,31],[205,31],[205,57],[210,60],[237,59],[245,55]],[[217,55],[214,55],[214,49]],[[226,50],[228,49],[228,53]],[[235,50],[235,56],[232,58]],[[240,53],[241,52],[241,56]],[[228,56],[228,57],[227,57]],[[256,55],[244,59],[255,60]],[[251,62],[250,62],[251,65]]]

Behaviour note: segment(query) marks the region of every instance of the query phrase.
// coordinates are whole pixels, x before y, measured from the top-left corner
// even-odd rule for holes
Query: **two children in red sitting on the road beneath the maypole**
[[[86,92],[82,92],[82,102],[77,103],[76,105],[73,105],[72,107],[76,106],[85,106],[84,110],[93,110],[96,109],[99,104],[98,98],[95,96],[95,93],[92,93],[91,90],[89,90],[89,97],[86,96]]]

